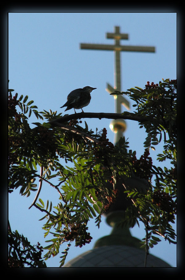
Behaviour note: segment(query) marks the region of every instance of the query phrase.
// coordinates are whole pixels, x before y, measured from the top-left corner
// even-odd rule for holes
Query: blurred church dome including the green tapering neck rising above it
[[[145,249],[133,237],[129,225],[121,227],[122,211],[109,213],[106,222],[113,227],[110,235],[98,239],[92,250],[68,261],[63,267],[145,267]],[[171,267],[160,258],[147,255],[146,267]]]

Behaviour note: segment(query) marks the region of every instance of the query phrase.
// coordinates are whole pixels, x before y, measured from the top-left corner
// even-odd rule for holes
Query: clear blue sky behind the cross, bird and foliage
[[[60,107],[66,102],[67,95],[73,89],[92,86],[97,89],[91,94],[91,102],[84,112],[114,112],[114,99],[105,90],[106,83],[114,85],[113,51],[80,50],[80,43],[113,44],[113,39],[106,39],[106,32],[113,32],[114,26],[120,26],[121,33],[128,33],[129,40],[121,40],[121,45],[155,46],[155,53],[122,52],[121,53],[121,90],[138,86],[143,88],[147,81],[158,83],[163,79],[176,79],[176,13],[9,13],[8,14],[8,78],[9,88],[18,96],[28,95],[34,100],[39,111],[51,109],[63,112]],[[130,102],[131,112],[132,101]],[[122,110],[126,110],[124,107]],[[73,114],[74,110],[67,113]],[[80,110],[79,110],[80,112]],[[31,116],[30,124],[37,122]],[[107,128],[108,138],[113,142],[114,134],[109,129],[110,120],[86,119],[92,130]],[[138,123],[126,121],[124,133],[128,138],[130,149],[136,150],[139,158],[144,152],[143,142],[146,137]],[[84,120],[82,121],[84,125]],[[31,124],[31,127],[34,127]],[[162,147],[151,151],[154,165],[159,166],[155,158]],[[165,166],[168,163],[165,162]],[[39,173],[39,170],[38,170]],[[48,197],[53,205],[58,201],[55,190],[47,185],[39,196],[44,201]],[[12,230],[18,230],[32,244],[38,241],[42,246],[43,217],[37,209],[28,210],[35,198],[21,197],[19,190],[9,196],[9,219]],[[66,261],[82,252],[92,249],[94,242],[111,232],[111,227],[102,218],[100,229],[89,223],[92,242],[82,248],[71,246]],[[175,227],[174,227],[175,228]],[[135,226],[131,229],[134,237],[142,239],[144,228]],[[49,238],[48,238],[49,239]],[[60,252],[65,248],[62,247]],[[176,266],[176,246],[162,240],[150,253]],[[48,267],[58,267],[60,256],[51,257]]]

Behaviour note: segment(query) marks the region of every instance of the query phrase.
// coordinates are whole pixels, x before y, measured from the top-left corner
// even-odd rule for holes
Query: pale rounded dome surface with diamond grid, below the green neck
[[[63,267],[144,267],[145,251],[126,246],[111,245],[94,248],[68,261]],[[171,267],[149,254],[146,267]]]

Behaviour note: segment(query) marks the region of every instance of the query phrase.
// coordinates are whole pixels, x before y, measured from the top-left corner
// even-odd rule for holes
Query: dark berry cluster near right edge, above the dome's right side
[[[166,212],[168,221],[174,218],[176,214],[176,203],[173,201],[169,193],[155,191],[152,195],[152,202],[156,204],[162,211]]]

